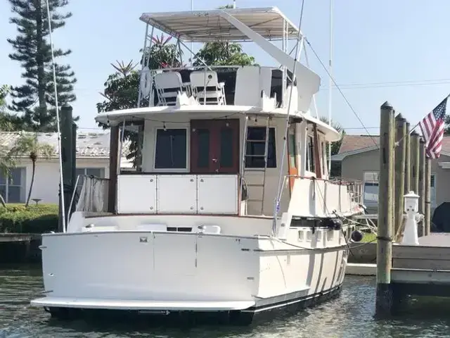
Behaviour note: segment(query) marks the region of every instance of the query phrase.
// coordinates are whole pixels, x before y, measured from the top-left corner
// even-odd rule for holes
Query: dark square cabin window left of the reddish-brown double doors
[[[157,129],[155,169],[186,168],[186,128]]]

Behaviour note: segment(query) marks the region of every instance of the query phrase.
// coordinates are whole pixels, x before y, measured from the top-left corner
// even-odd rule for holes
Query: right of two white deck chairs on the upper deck
[[[219,83],[214,70],[192,72],[190,78],[193,94],[199,104],[226,104],[225,82]]]

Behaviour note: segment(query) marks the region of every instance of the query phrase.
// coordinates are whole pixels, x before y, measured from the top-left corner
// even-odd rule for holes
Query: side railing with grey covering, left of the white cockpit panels
[[[68,214],[70,215],[72,211],[107,212],[108,182],[108,178],[78,175]]]

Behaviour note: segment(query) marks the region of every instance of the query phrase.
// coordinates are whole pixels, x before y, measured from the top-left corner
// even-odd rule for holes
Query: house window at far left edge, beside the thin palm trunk
[[[0,175],[0,194],[6,203],[25,202],[25,168],[14,168],[11,176]]]

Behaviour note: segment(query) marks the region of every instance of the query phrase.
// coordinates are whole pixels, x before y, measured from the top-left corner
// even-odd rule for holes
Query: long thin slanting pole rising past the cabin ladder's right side
[[[290,95],[288,100],[288,111],[286,113],[286,124],[285,124],[285,132],[283,134],[283,155],[281,156],[281,165],[280,165],[280,177],[278,177],[278,192],[276,194],[276,200],[274,204],[274,223],[272,224],[272,236],[275,236],[276,232],[276,218],[278,215],[278,212],[280,211],[280,199],[281,199],[281,192],[283,192],[283,168],[284,168],[284,161],[285,161],[285,155],[286,155],[286,148],[288,147],[288,131],[289,131],[289,125],[290,125],[290,106],[291,101],[293,99],[293,89],[295,84],[295,71],[297,70],[297,60],[299,58],[299,51],[300,51],[300,41],[302,41],[302,19],[303,19],[303,8],[304,8],[304,0],[302,0],[302,8],[300,10],[300,20],[298,24],[298,32],[297,32],[297,46],[295,46],[295,57],[294,57],[294,67],[293,67],[293,78],[292,78],[292,84],[290,86]],[[284,27],[284,25],[283,25]],[[284,38],[284,34],[283,34]],[[283,86],[285,84],[283,83]],[[285,97],[281,98],[283,102],[285,101]],[[267,135],[266,135],[267,137]]]

